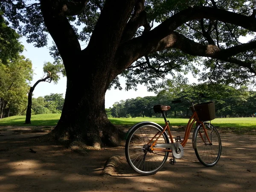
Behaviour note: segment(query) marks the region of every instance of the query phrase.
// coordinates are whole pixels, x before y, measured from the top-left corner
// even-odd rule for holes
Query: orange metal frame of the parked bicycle
[[[157,135],[160,133],[160,135],[157,137],[157,139],[154,141],[154,143],[151,144],[151,147],[150,147],[150,148],[151,148],[152,151],[168,151],[168,152],[172,152],[171,149],[154,147],[155,144],[157,143],[157,140],[158,140],[158,139],[161,137],[161,135],[166,131],[166,129],[167,129],[167,131],[168,131],[168,134],[169,134],[169,138],[170,138],[171,143],[170,143],[170,144],[163,144],[163,145],[170,145],[170,146],[167,147],[167,148],[171,148],[171,146],[176,143],[176,141],[174,142],[174,140],[173,140],[173,138],[172,138],[172,133],[171,133],[171,129],[170,129],[170,127],[169,127],[169,122],[166,120],[165,116],[164,116],[164,119],[165,119],[165,124],[166,124],[166,125],[163,127],[163,131],[162,131],[161,133],[160,133],[160,131],[159,131],[159,132],[158,132],[157,134],[155,134],[155,136],[147,143],[147,145],[149,145],[149,144],[152,142],[152,140],[154,140],[154,139],[157,137]],[[203,129],[204,129],[204,131],[205,131],[205,133],[206,133],[207,140],[209,141],[209,143],[211,143],[211,141],[210,141],[210,139],[209,139],[209,136],[208,136],[208,134],[207,134],[207,130],[206,130],[205,126],[204,126],[204,123],[201,122],[201,121],[198,119],[198,114],[197,114],[197,112],[196,112],[196,111],[193,111],[193,114],[192,114],[192,116],[190,117],[190,119],[189,119],[189,121],[188,121],[188,123],[187,123],[187,125],[186,125],[186,131],[185,131],[185,134],[184,134],[183,141],[180,143],[183,147],[185,147],[185,145],[186,145],[186,143],[187,143],[187,141],[188,141],[188,139],[189,139],[190,131],[191,131],[193,125],[195,124],[195,122],[196,122],[196,125],[199,125],[199,124],[202,125],[202,127],[203,127]],[[203,138],[203,136],[201,135],[201,132],[200,132],[200,136],[201,136],[201,139],[204,141],[204,138]],[[161,145],[161,144],[160,144],[160,145]],[[165,146],[165,147],[166,147],[166,146]]]

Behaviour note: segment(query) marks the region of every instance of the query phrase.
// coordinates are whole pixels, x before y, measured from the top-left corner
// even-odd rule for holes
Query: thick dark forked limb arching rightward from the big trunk
[[[124,70],[142,56],[168,47],[180,49],[190,55],[211,57],[221,60],[224,58],[227,59],[227,56],[221,54],[222,50],[217,46],[199,44],[174,32],[174,30],[183,23],[201,18],[233,23],[251,31],[256,31],[256,19],[252,17],[209,7],[185,9],[173,15],[151,31],[140,37],[133,38],[120,46],[117,55],[122,55],[122,61],[117,61],[118,68]]]

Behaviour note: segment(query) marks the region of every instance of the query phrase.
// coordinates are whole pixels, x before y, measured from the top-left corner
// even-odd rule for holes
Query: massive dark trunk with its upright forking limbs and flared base
[[[111,8],[116,6],[116,1],[106,1],[88,46],[81,50],[76,32],[66,16],[82,13],[83,6],[71,3],[73,6],[63,7],[62,1],[41,0],[45,26],[58,48],[67,73],[61,118],[49,137],[82,141],[95,148],[103,144],[124,144],[124,131],[116,128],[105,113],[105,93],[117,75],[143,56],[141,53],[131,57],[127,47],[121,46],[136,2],[119,1],[118,9],[113,12]],[[86,3],[84,1],[84,6]],[[69,7],[75,7],[76,11]]]

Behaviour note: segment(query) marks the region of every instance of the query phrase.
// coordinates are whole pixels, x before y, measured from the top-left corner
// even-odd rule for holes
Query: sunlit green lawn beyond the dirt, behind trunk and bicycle
[[[31,116],[31,126],[55,126],[61,114],[38,114]],[[0,119],[0,126],[27,126],[24,124],[26,116],[11,116]],[[188,119],[168,118],[172,126],[186,126]],[[132,126],[138,122],[151,121],[164,125],[163,118],[109,118],[114,125]],[[222,130],[253,131],[256,130],[256,118],[217,118],[212,124]]]

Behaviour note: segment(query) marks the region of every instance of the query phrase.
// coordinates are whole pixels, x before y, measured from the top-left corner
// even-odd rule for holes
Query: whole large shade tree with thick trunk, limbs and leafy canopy
[[[102,143],[122,142],[124,133],[105,113],[106,90],[113,83],[118,87],[121,73],[130,77],[128,88],[140,82],[154,84],[159,77],[156,72],[163,77],[172,69],[184,70],[182,66],[193,69],[193,61],[198,59],[214,72],[202,78],[211,77],[212,81],[224,76],[230,83],[241,82],[256,74],[256,41],[239,41],[240,36],[256,32],[254,1],[13,2],[0,2],[13,26],[19,28],[19,20],[25,23],[20,33],[27,34],[29,42],[38,47],[46,44],[49,32],[64,62],[65,102],[50,134],[59,140],[82,140],[97,148]],[[83,31],[79,33],[74,25],[82,25]],[[81,49],[79,40],[87,41],[87,47]],[[138,74],[141,76],[131,76]]]

